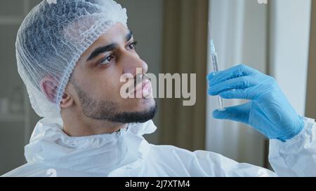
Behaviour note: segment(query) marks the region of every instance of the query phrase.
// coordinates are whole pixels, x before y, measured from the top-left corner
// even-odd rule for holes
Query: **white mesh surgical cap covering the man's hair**
[[[29,12],[15,47],[18,72],[37,115],[60,118],[60,101],[74,66],[117,22],[127,27],[126,9],[112,0],[47,0]],[[57,84],[52,97],[41,87],[46,78]]]

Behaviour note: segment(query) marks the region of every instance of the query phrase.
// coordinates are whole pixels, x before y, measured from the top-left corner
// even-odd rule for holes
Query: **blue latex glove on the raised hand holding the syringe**
[[[209,94],[248,99],[246,104],[214,111],[213,118],[250,125],[269,139],[286,141],[303,129],[303,118],[289,104],[274,78],[245,65],[210,73]]]

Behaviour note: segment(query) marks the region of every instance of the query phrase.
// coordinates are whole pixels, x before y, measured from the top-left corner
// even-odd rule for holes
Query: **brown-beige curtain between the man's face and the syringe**
[[[208,3],[164,1],[162,73],[196,73],[197,102],[183,106],[183,99],[161,99],[159,139],[188,150],[205,147]]]

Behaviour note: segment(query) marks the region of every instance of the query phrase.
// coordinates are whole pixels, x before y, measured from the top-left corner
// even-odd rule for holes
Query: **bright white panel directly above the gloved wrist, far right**
[[[271,3],[270,69],[291,104],[305,114],[310,0]]]

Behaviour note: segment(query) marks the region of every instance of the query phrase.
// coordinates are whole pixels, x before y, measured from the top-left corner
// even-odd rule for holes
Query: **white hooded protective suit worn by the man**
[[[147,143],[143,134],[155,129],[150,120],[112,134],[70,137],[61,120],[44,118],[25,146],[27,164],[4,176],[316,176],[315,120],[305,118],[300,134],[285,143],[270,141],[275,173],[208,151]]]

